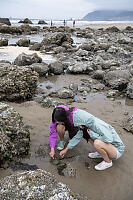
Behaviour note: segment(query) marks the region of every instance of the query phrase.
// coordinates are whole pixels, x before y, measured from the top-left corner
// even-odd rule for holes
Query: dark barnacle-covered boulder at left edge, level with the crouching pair
[[[30,133],[22,116],[13,107],[0,103],[0,163],[27,154],[29,143]]]

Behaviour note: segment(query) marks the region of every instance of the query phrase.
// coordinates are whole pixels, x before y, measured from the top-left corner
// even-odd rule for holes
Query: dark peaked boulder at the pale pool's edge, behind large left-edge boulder
[[[18,66],[32,65],[33,63],[41,62],[42,58],[40,58],[36,53],[33,53],[31,55],[22,53],[14,60],[14,64]]]

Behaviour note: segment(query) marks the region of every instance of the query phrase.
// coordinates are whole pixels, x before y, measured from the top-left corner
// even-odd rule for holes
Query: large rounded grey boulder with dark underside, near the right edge
[[[114,70],[105,73],[104,81],[105,84],[112,89],[119,91],[127,88],[127,84],[131,78],[131,74],[128,70]]]

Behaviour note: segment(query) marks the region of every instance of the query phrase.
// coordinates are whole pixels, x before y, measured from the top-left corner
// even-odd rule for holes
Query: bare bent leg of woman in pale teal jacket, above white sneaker
[[[105,143],[98,139],[94,140],[93,145],[97,150],[97,152],[103,157],[105,162],[110,163],[111,162],[110,158],[116,158],[117,149],[115,148],[114,145]]]

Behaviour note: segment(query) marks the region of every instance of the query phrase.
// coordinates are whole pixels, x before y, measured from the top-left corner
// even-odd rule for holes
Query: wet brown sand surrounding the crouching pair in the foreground
[[[49,124],[52,108],[42,108],[34,101],[21,104],[9,103],[23,116],[23,121],[29,126],[31,132],[30,152],[27,157],[22,159],[22,162],[37,165],[39,168],[50,171],[59,181],[68,184],[73,191],[87,195],[90,200],[131,200],[133,195],[133,135],[122,129],[125,113],[128,112],[129,115],[133,113],[133,104],[131,102],[130,106],[128,106],[108,99],[93,99],[88,103],[72,104],[72,106],[85,109],[110,123],[120,134],[126,145],[124,155],[119,160],[114,161],[113,167],[100,172],[95,171],[94,166],[101,160],[92,160],[87,157],[88,153],[94,149],[91,144],[87,144],[85,140],[82,140],[67,154],[67,157],[74,156],[75,159],[61,160],[61,163],[70,163],[76,169],[76,177],[60,176],[57,166],[52,165],[50,162],[48,156]],[[46,156],[43,153],[40,156],[36,154],[40,145],[44,147]],[[0,177],[12,173],[14,171],[11,169],[1,169]]]

